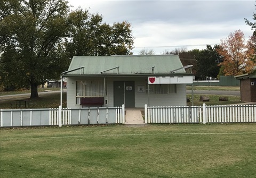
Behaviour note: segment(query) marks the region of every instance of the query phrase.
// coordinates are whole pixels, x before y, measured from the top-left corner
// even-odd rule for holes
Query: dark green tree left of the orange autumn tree
[[[206,45],[206,49],[199,50],[199,53],[195,56],[197,75],[202,79],[206,77],[217,78],[220,71],[219,64],[222,62],[222,57],[216,50],[219,48],[219,45],[214,47]]]

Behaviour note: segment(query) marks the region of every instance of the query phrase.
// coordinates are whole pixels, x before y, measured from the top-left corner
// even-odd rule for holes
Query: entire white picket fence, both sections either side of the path
[[[125,108],[1,109],[1,127],[79,124],[125,124]],[[145,105],[145,123],[252,123],[256,105]]]

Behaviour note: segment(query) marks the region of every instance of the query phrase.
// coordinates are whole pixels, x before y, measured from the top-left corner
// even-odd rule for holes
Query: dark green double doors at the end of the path
[[[135,107],[134,81],[114,81],[114,106]]]

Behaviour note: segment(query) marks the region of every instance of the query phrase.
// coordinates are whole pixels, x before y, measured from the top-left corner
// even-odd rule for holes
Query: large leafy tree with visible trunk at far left
[[[58,43],[68,27],[68,2],[4,0],[1,2],[0,52],[2,81],[37,86],[63,71]]]

